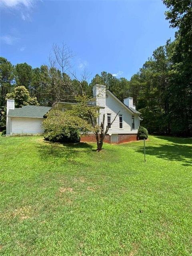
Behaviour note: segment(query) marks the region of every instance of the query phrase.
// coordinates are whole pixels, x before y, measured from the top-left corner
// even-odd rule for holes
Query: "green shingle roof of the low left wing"
[[[51,109],[51,107],[28,105],[22,108],[10,109],[8,117],[32,117],[44,118],[44,115]]]

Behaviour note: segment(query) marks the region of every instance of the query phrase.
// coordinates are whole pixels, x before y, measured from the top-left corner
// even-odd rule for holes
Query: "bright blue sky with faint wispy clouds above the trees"
[[[161,0],[1,0],[0,55],[33,68],[48,64],[52,44],[65,42],[74,68],[130,78],[153,50],[174,39]]]

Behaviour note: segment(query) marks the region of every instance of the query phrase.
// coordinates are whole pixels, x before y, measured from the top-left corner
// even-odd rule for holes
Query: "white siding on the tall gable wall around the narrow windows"
[[[107,125],[107,113],[111,114],[111,122],[114,120],[116,114],[120,111],[119,114],[123,116],[123,128],[119,128],[119,115],[116,117],[116,120],[113,122],[111,128],[109,129],[108,133],[112,134],[136,134],[138,132],[138,114],[132,114],[129,112],[122,104],[120,104],[117,100],[114,99],[109,93],[106,97],[106,108],[105,108],[105,126]],[[135,129],[132,129],[132,116],[135,116]]]

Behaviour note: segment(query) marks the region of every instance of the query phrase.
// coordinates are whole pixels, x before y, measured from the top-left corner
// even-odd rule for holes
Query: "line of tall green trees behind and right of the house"
[[[164,0],[166,19],[178,28],[175,40],[154,50],[130,80],[108,72],[96,74],[88,83],[88,73],[79,79],[72,70],[72,52],[63,44],[54,45],[50,65],[32,68],[27,63],[12,65],[0,58],[0,106],[15,87],[25,86],[30,97],[42,106],[58,101],[74,101],[78,95],[92,97],[92,87],[104,84],[120,100],[133,97],[142,113],[142,126],[150,133],[192,136],[192,0]]]

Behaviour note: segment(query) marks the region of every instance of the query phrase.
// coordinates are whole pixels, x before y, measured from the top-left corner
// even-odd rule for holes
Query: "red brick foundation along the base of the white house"
[[[118,134],[118,144],[138,140],[137,134]],[[86,134],[81,136],[81,142],[96,142],[94,134]],[[111,136],[108,134],[104,138],[105,143],[111,143]]]

